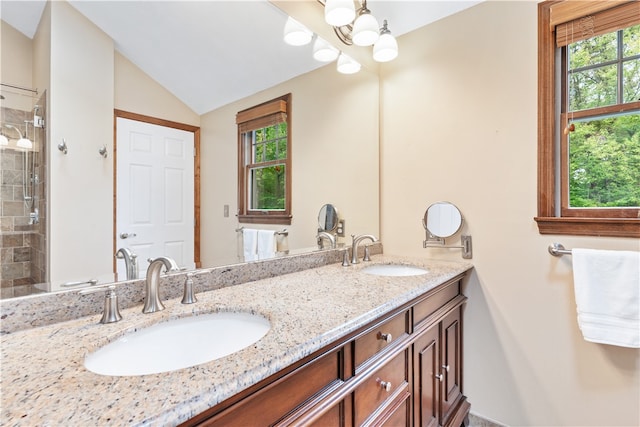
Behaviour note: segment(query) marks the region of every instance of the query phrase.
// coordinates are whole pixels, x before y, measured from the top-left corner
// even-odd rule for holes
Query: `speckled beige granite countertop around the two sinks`
[[[429,274],[383,277],[372,264],[407,263]],[[1,424],[5,426],[177,425],[358,329],[380,315],[472,268],[467,262],[378,255],[197,294],[198,302],[165,302],[166,310],[121,310],[0,337]],[[162,290],[161,290],[162,291]],[[86,354],[125,333],[173,318],[216,311],[258,313],[271,329],[232,355],[191,368],[130,377],[84,368]]]

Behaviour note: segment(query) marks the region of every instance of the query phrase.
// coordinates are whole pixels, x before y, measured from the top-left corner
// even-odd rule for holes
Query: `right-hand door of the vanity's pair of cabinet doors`
[[[461,308],[442,320],[442,419],[446,424],[452,408],[462,398],[462,317]]]

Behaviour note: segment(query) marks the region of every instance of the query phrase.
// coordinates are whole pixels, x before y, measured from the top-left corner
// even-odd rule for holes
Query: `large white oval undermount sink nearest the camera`
[[[242,350],[270,328],[267,319],[250,313],[183,317],[124,335],[87,355],[84,366],[112,376],[174,371]]]

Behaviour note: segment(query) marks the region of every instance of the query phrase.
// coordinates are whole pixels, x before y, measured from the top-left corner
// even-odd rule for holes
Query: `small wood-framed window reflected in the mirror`
[[[291,224],[291,94],[236,115],[239,221]]]

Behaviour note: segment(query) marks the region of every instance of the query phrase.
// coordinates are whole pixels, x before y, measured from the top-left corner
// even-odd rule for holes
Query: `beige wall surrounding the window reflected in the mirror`
[[[346,220],[347,237],[340,242],[350,242],[352,233],[378,234],[378,85],[370,72],[345,76],[331,64],[202,116],[203,265],[237,260],[235,115],[287,93],[293,104],[289,247],[316,245],[318,211],[325,203],[333,203]]]

